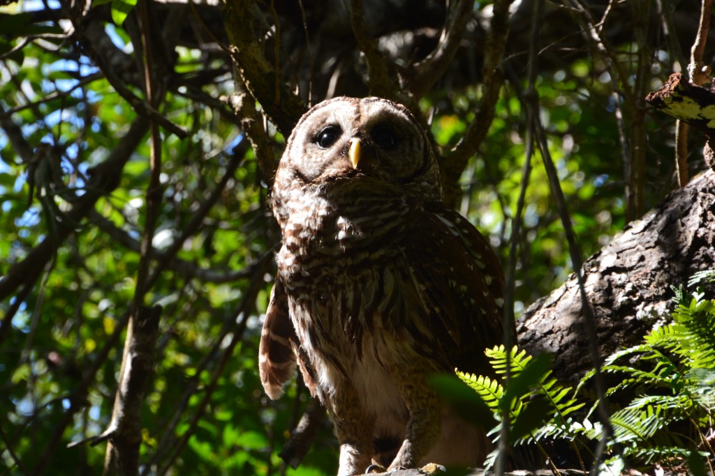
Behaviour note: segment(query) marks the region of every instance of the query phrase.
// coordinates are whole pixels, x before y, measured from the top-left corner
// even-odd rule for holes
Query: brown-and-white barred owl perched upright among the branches
[[[433,147],[408,108],[317,104],[287,141],[271,201],[282,247],[259,350],[266,393],[280,396],[300,366],[335,426],[340,476],[483,462],[483,430],[428,380],[488,373],[501,268],[443,204]]]

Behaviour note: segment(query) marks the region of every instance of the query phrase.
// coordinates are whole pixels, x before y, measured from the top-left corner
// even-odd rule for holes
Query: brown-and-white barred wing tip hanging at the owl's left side
[[[282,395],[283,384],[295,373],[296,360],[305,385],[311,395],[315,395],[315,373],[298,343],[289,313],[288,296],[283,281],[278,276],[270,293],[258,348],[261,383],[265,393],[274,400]]]

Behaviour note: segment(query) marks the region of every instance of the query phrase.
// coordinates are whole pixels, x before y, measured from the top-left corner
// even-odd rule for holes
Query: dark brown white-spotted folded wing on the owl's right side
[[[502,342],[503,274],[489,243],[459,213],[435,204],[417,211],[403,243],[428,316],[430,348],[447,366],[485,373],[485,348]]]

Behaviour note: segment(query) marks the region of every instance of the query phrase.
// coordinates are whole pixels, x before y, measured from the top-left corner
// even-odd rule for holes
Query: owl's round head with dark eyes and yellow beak
[[[274,196],[321,187],[441,200],[433,148],[408,108],[382,98],[333,98],[293,129],[276,173]]]

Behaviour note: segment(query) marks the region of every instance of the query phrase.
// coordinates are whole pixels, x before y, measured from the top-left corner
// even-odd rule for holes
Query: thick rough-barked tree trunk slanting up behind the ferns
[[[631,223],[583,265],[601,357],[640,342],[672,308],[671,286],[712,268],[715,173],[707,171]],[[517,328],[521,348],[553,353],[557,378],[573,381],[593,367],[575,275],[531,305]]]

